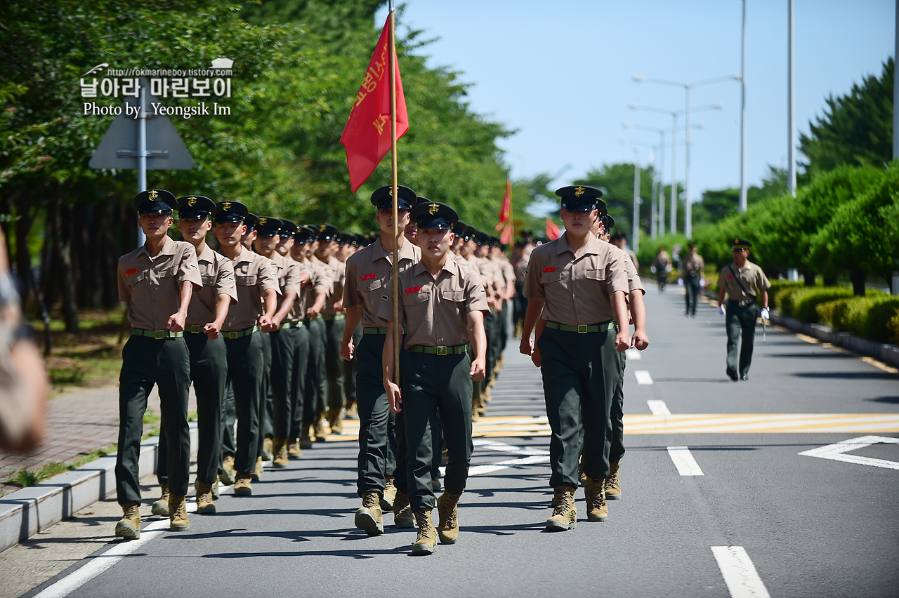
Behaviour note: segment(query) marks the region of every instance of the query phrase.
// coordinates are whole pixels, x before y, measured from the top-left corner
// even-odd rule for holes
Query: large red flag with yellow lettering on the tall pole
[[[390,16],[381,30],[378,46],[369,62],[369,69],[362,77],[359,93],[353,101],[350,118],[343,128],[340,142],[346,149],[346,165],[350,169],[352,192],[368,180],[387,155],[393,140],[390,138]],[[399,77],[399,61],[396,62],[396,138],[409,130],[409,116],[405,111],[403,82]]]

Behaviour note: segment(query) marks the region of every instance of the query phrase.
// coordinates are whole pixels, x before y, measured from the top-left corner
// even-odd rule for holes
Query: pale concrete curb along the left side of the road
[[[197,424],[191,422],[191,454],[197,450]],[[140,444],[140,477],[156,471],[159,437]],[[101,457],[76,470],[60,473],[39,484],[0,497],[0,551],[50,525],[71,517],[115,492],[116,455]]]

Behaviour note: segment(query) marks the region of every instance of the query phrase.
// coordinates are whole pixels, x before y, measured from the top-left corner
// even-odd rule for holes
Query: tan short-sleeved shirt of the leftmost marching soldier
[[[194,292],[203,284],[193,245],[171,237],[155,258],[147,245],[121,256],[116,277],[119,301],[131,302],[131,327],[141,330],[168,330],[169,318],[180,308],[182,282],[191,281]]]

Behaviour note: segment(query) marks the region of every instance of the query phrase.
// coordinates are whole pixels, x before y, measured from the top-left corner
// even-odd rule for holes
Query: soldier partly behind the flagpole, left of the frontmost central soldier
[[[378,316],[382,303],[392,291],[393,284],[393,223],[392,186],[381,187],[371,195],[371,203],[378,208],[375,219],[380,236],[368,247],[358,251],[346,261],[346,286],[343,287],[343,309],[346,310],[346,329],[343,331],[341,356],[357,359],[356,388],[359,405],[359,477],[357,488],[362,506],[356,511],[356,527],[371,535],[384,532],[382,505],[384,508],[400,503],[395,511],[395,523],[410,524],[412,517],[403,513],[408,505],[406,496],[405,459],[394,470],[387,469],[390,459],[389,429],[391,418],[387,392],[382,380],[381,355],[387,338],[387,320]],[[415,192],[408,187],[397,186],[397,227],[408,233],[409,210],[415,202]],[[411,268],[421,259],[422,251],[405,236],[396,239],[400,272]],[[362,339],[354,344],[352,330],[362,324]],[[398,444],[405,445],[401,429]],[[405,451],[403,451],[405,453]],[[405,517],[405,521],[403,518]],[[401,519],[396,521],[396,519]]]

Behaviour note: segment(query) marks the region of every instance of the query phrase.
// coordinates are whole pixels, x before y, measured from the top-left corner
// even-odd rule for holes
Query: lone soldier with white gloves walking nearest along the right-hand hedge
[[[749,380],[752,365],[752,345],[755,342],[755,321],[761,315],[768,320],[768,277],[749,261],[752,243],[734,239],[731,250],[734,262],[718,273],[718,313],[727,314],[727,375],[731,380]],[[725,310],[725,295],[727,308]],[[761,312],[759,306],[761,305]],[[740,347],[740,371],[737,373],[737,340],[743,334]]]

